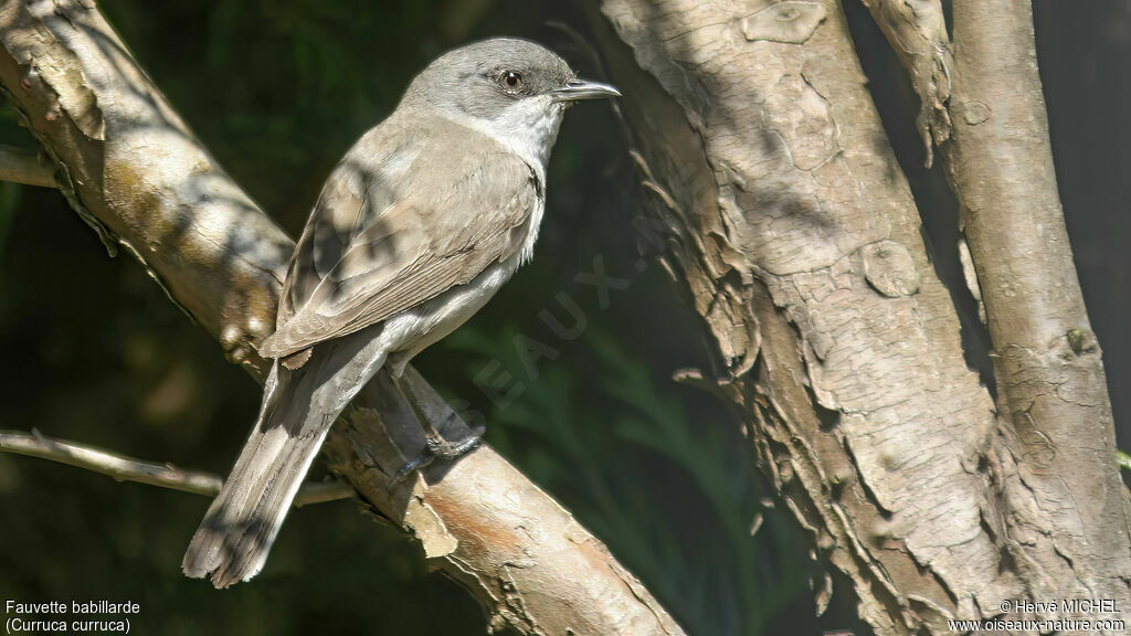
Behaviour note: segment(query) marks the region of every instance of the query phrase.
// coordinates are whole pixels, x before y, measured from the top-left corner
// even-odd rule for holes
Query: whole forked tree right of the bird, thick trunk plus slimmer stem
[[[968,210],[999,406],[967,368],[835,0],[601,2],[645,240],[703,317],[758,464],[877,634],[1119,619],[1059,603],[1131,607],[1131,526],[1028,8],[956,1],[953,63],[936,2],[866,3]],[[1003,605],[1018,600],[1057,605]]]

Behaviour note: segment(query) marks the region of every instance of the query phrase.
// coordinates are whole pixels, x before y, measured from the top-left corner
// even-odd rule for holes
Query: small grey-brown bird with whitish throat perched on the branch
[[[330,174],[295,246],[259,419],[182,568],[216,587],[262,569],[330,424],[399,378],[530,259],[566,108],[618,96],[516,38],[456,49]]]

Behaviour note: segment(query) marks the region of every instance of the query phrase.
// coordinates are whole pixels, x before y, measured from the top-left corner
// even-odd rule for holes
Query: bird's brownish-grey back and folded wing
[[[323,188],[260,353],[290,355],[470,282],[521,249],[541,198],[535,171],[484,135],[382,123]]]

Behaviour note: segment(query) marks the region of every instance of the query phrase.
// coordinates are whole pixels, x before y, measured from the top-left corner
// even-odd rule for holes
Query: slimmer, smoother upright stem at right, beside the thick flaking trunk
[[[950,50],[940,2],[865,3],[918,88],[915,60]],[[1031,7],[956,0],[953,12],[953,129],[939,148],[996,351],[1001,444],[991,458],[1010,513],[987,524],[1026,564],[1033,595],[1126,599],[1131,499],[1056,189]]]

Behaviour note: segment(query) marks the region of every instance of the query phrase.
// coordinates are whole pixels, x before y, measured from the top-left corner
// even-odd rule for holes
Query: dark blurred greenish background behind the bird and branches
[[[292,234],[338,157],[439,53],[520,35],[598,75],[560,31],[585,11],[518,0],[104,0],[102,8],[217,160]],[[917,103],[855,0],[865,70],[936,244],[956,206],[922,169]],[[1131,5],[1035,3],[1061,195],[1116,421],[1131,416],[1125,293],[1126,65]],[[605,79],[597,77],[598,79]],[[31,144],[10,106],[0,139]],[[139,161],[145,161],[139,157]],[[417,361],[450,399],[483,413],[487,439],[549,489],[697,635],[854,628],[851,592],[813,617],[806,550],[761,502],[737,427],[709,396],[671,380],[710,369],[697,318],[656,267],[638,273],[631,166],[611,109],[584,104],[562,128],[535,261]],[[950,267],[939,250],[939,267]],[[601,258],[629,282],[602,308],[575,276]],[[538,318],[567,293],[587,328],[572,341]],[[551,347],[536,378],[515,338]],[[226,473],[259,404],[128,257],[107,259],[52,190],[0,184],[2,428]],[[550,351],[550,350],[545,350]],[[506,406],[473,383],[499,364],[521,384]],[[517,385],[511,385],[517,386]],[[1123,444],[1128,437],[1123,437]],[[323,471],[316,467],[316,473]],[[353,502],[294,512],[265,571],[216,592],[179,565],[208,501],[37,459],[0,455],[0,601],[131,600],[137,634],[482,634],[466,593],[426,571],[420,549]],[[765,523],[751,536],[756,516]]]

